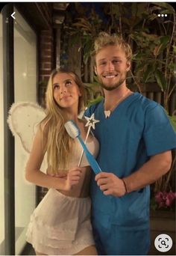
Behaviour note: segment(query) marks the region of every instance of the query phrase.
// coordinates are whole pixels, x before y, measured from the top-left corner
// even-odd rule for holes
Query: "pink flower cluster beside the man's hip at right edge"
[[[160,207],[171,207],[176,198],[176,192],[157,192],[155,195],[155,201],[159,204]]]

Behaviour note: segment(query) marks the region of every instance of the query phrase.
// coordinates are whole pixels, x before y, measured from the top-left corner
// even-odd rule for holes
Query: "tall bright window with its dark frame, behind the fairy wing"
[[[13,139],[7,115],[14,102],[37,101],[37,36],[13,4],[0,14],[0,77],[0,255],[20,255],[36,186],[25,181],[28,155],[19,138]]]

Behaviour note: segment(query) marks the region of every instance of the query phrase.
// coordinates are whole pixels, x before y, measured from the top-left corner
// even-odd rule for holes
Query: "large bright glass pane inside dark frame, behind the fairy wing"
[[[37,37],[25,19],[16,12],[14,22],[14,79],[15,102],[37,101]],[[21,118],[19,129],[25,122]],[[21,131],[21,130],[20,130]],[[28,132],[28,131],[26,131]],[[23,136],[24,132],[20,133]],[[36,204],[36,186],[25,180],[25,164],[28,153],[21,140],[15,138],[15,222],[16,255],[25,246],[25,232]]]

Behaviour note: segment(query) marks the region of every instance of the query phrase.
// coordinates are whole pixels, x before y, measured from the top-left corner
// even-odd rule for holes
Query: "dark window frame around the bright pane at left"
[[[15,140],[7,126],[10,106],[14,103],[14,25],[11,13],[14,7],[33,29],[39,49],[37,29],[26,19],[25,13],[20,12],[16,4],[6,4],[2,14],[2,45],[3,45],[3,91],[4,91],[4,255],[16,255],[15,237]],[[37,51],[38,52],[38,51]],[[39,56],[37,53],[37,81],[39,77]],[[37,85],[38,99],[38,85]],[[36,187],[36,204],[38,188]],[[26,246],[26,245],[25,245]],[[24,248],[25,249],[25,248]]]

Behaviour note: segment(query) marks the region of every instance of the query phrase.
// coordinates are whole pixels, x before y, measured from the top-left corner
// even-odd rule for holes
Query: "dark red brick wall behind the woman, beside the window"
[[[45,107],[45,90],[51,70],[54,69],[54,35],[52,30],[43,30],[40,32],[39,51],[38,100],[40,106]],[[48,189],[46,188],[38,187],[38,203],[47,191]]]

